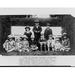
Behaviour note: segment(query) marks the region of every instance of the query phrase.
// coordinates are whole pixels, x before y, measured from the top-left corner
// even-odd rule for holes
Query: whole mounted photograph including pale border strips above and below
[[[4,58],[0,63],[65,66],[67,61],[70,66],[68,61],[75,55],[75,16],[61,10],[64,9],[0,9],[0,56]]]

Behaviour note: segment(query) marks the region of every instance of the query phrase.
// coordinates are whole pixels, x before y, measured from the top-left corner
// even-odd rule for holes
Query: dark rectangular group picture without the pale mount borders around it
[[[0,15],[1,55],[73,55],[74,21],[71,14]]]

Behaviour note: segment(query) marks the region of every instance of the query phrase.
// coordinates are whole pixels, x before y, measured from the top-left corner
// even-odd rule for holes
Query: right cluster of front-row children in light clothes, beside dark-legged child
[[[49,48],[51,48],[53,51],[70,50],[70,40],[66,35],[63,35],[63,38],[56,37],[55,39],[50,35],[47,44],[48,50],[50,50]]]

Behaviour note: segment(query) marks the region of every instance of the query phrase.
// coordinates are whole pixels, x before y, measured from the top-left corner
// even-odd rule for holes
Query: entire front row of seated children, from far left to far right
[[[53,38],[52,35],[49,35],[49,39],[45,40],[41,36],[39,41],[35,41],[34,37],[31,38],[31,41],[28,41],[26,37],[18,38],[8,38],[3,47],[7,52],[19,51],[19,52],[29,52],[29,51],[69,51],[70,50],[70,41],[64,36],[62,40],[59,38]],[[44,50],[45,49],[45,50]]]

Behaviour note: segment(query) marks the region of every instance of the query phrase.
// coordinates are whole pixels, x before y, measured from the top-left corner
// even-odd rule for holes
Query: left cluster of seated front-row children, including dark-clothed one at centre
[[[31,41],[29,42],[26,37],[24,38],[20,37],[17,38],[16,40],[15,38],[8,38],[4,42],[3,48],[5,48],[7,52],[11,51],[29,52],[30,50],[38,49],[38,47],[36,46],[36,42],[34,41],[34,38],[32,38]]]

